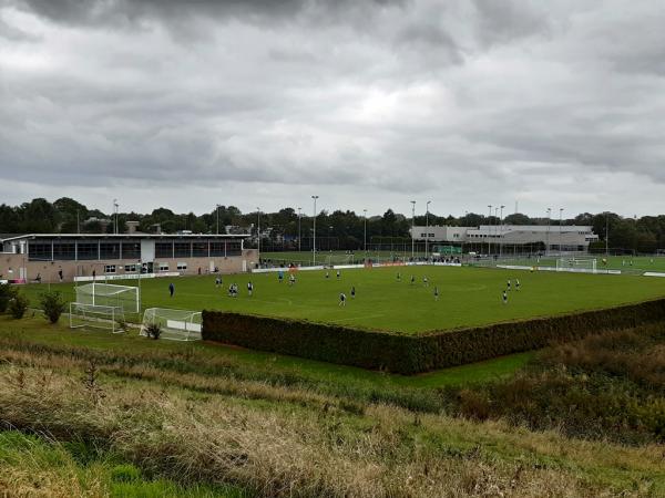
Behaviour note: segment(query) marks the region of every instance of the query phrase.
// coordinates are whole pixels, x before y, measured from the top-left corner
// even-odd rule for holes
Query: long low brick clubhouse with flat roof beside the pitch
[[[27,234],[0,235],[0,280],[58,282],[131,279],[139,274],[248,271],[258,262],[247,235]]]

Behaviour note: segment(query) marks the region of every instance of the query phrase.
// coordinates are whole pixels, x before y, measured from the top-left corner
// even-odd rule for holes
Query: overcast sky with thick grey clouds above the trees
[[[0,203],[665,212],[662,1],[0,0]]]

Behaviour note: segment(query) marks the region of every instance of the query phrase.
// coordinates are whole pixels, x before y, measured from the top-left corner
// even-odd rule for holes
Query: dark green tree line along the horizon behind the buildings
[[[90,209],[83,204],[62,197],[53,203],[43,198],[32,199],[19,206],[0,205],[0,234],[100,234],[114,232],[115,217],[99,209]],[[234,227],[239,232],[256,235],[260,222],[262,247],[297,249],[298,238],[301,248],[310,247],[313,237],[313,217],[303,215],[294,208],[283,208],[276,212],[242,212],[235,206],[219,206],[209,212],[176,214],[160,207],[150,214],[119,212],[119,232],[126,232],[126,221],[139,221],[137,229],[154,232],[157,226],[165,234],[191,230],[194,234],[226,232],[226,227]],[[426,225],[426,216],[419,215],[416,225]],[[498,225],[498,217],[468,212],[462,217],[438,216],[430,212],[430,226],[468,226]],[[545,217],[531,218],[524,214],[512,214],[504,217],[507,225],[546,225],[556,227],[559,219]],[[614,212],[583,212],[574,218],[563,219],[564,225],[591,225],[600,241],[596,249],[608,246],[612,249],[653,253],[665,249],[665,215],[643,216],[641,218],[622,217]],[[362,249],[365,240],[368,245],[385,239],[409,238],[411,218],[388,209],[382,216],[365,219],[362,214],[351,210],[320,211],[316,218],[317,247],[325,248],[326,241],[334,249]],[[606,230],[607,228],[607,230]]]

